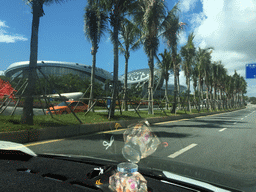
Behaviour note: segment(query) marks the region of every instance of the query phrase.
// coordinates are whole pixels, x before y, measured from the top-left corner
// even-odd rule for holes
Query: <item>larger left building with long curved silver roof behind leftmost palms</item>
[[[6,77],[14,78],[29,66],[29,61],[21,61],[11,64],[4,72]],[[37,66],[46,75],[65,75],[72,73],[80,77],[91,76],[91,66],[79,63],[61,62],[61,61],[37,61]],[[42,74],[37,71],[39,77]],[[108,71],[97,68],[95,69],[95,78],[100,82],[105,82],[106,79],[113,79],[113,76]]]

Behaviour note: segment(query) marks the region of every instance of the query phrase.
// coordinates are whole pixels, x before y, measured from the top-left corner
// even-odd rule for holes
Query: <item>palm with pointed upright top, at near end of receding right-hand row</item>
[[[195,56],[195,46],[193,43],[193,39],[194,39],[194,34],[191,33],[188,36],[188,41],[187,44],[184,45],[181,48],[181,55],[184,58],[184,64],[182,66],[184,72],[185,72],[185,76],[186,76],[186,83],[188,86],[188,91],[187,91],[187,101],[188,101],[188,109],[191,112],[191,105],[190,105],[190,76],[191,76],[191,71],[192,71],[192,64],[193,64],[193,57]]]

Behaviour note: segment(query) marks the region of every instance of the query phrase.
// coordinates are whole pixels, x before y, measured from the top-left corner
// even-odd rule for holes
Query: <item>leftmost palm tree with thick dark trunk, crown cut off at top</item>
[[[36,67],[37,67],[37,52],[38,52],[38,29],[39,19],[44,15],[43,5],[51,3],[59,3],[62,0],[24,0],[32,9],[32,33],[30,40],[30,59],[29,67],[24,76],[28,76],[28,85],[25,91],[25,102],[21,123],[33,125],[33,95],[35,94],[36,83]]]

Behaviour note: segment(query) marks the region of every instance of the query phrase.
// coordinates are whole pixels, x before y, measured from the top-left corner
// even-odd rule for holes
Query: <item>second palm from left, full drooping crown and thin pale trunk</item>
[[[85,36],[92,43],[91,92],[89,101],[89,107],[91,107],[93,104],[96,54],[99,48],[100,38],[107,29],[107,15],[100,9],[98,1],[88,1],[85,8],[84,24]],[[94,109],[92,110],[94,111]]]

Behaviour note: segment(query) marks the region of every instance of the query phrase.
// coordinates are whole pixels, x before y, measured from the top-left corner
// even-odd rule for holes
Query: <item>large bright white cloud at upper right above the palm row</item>
[[[221,60],[228,74],[236,69],[245,76],[245,65],[256,62],[256,4],[253,0],[201,0],[203,11],[193,14],[190,26],[195,45],[214,47],[212,60]],[[248,95],[256,94],[248,82]],[[250,92],[249,92],[250,90]]]

